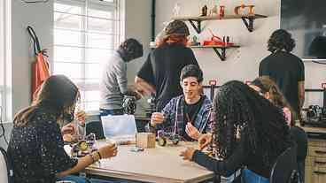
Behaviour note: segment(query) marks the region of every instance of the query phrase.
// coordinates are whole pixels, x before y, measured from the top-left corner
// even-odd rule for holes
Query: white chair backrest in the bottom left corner
[[[12,183],[13,174],[12,166],[8,159],[7,153],[3,148],[0,147],[0,182],[1,183]]]

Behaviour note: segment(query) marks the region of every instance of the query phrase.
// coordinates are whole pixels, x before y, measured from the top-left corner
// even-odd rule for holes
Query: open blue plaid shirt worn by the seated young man
[[[204,101],[198,111],[194,126],[198,129],[199,133],[211,132],[212,118],[212,102],[206,95],[203,95]],[[185,128],[184,120],[184,96],[179,95],[171,99],[169,103],[161,111],[164,115],[162,124],[156,127],[156,130],[165,130],[166,132],[175,132],[183,136],[183,129]],[[153,128],[151,128],[151,131]]]

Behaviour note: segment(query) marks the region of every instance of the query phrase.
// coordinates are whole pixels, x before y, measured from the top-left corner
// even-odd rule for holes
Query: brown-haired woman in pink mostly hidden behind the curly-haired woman
[[[295,125],[294,113],[291,112],[290,105],[286,102],[280,89],[273,80],[267,78],[257,78],[253,80],[249,87],[256,90],[260,95],[263,95],[271,103],[283,109],[284,116],[290,126],[290,133],[293,140],[297,143],[297,162],[300,179],[304,179],[305,159],[307,156],[307,133]]]

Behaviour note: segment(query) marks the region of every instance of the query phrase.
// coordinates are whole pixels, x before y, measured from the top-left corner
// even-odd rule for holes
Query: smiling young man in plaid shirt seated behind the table
[[[212,103],[202,92],[203,72],[197,65],[186,65],[180,80],[183,95],[172,98],[161,112],[154,112],[149,127],[151,131],[175,132],[185,141],[198,140],[211,129]]]

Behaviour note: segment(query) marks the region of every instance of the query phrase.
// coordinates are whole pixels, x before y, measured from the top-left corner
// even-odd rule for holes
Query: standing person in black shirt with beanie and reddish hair
[[[184,22],[170,22],[164,34],[163,41],[149,54],[135,79],[142,94],[156,95],[157,111],[161,111],[171,98],[182,95],[178,80],[182,68],[198,65],[192,50],[186,47],[190,33]]]

